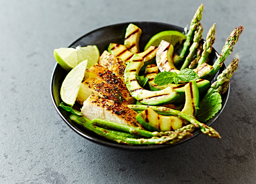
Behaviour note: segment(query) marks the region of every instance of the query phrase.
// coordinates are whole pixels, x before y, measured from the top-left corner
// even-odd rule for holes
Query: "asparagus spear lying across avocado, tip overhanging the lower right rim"
[[[159,106],[159,107],[158,106],[145,106],[145,105],[127,105],[127,106],[135,111],[137,111],[137,110],[142,111],[142,110],[146,110],[149,107],[151,107],[154,111],[156,111],[159,114],[163,114],[165,116],[174,115],[174,116],[181,117],[181,118],[189,121],[195,127],[199,127],[200,130],[204,134],[209,135],[210,137],[214,137],[214,138],[221,138],[219,133],[217,131],[215,131],[215,129],[208,127],[204,123],[200,123],[193,116],[188,116],[187,114],[184,114],[178,110],[169,109],[169,108],[161,107],[161,106]]]

